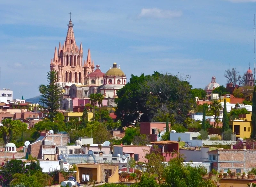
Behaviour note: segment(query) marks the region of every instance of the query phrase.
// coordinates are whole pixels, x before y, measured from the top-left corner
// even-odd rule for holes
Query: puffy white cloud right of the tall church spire
[[[146,9],[143,8],[140,11],[139,17],[149,17],[149,18],[175,18],[182,16],[182,11],[170,11],[162,10],[158,8]]]

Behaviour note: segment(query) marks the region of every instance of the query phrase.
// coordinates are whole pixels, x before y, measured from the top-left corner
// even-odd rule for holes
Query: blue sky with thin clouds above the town
[[[90,47],[102,72],[116,62],[128,80],[180,73],[204,88],[212,76],[225,85],[229,67],[241,74],[253,67],[256,0],[12,0],[0,2],[1,89],[13,90],[14,98],[19,90],[25,99],[40,95],[70,11],[76,43]]]

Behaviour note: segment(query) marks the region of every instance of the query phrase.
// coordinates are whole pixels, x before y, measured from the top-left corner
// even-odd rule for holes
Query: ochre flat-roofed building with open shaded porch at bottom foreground
[[[76,181],[84,184],[87,180],[98,183],[118,182],[118,166],[109,164],[83,163],[76,164]]]

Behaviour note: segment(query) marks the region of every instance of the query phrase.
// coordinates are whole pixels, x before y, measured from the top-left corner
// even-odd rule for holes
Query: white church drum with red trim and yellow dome
[[[105,97],[115,98],[116,91],[123,88],[126,84],[126,76],[124,72],[117,68],[116,62],[113,68],[110,68],[103,76],[103,85],[100,87],[100,93]]]

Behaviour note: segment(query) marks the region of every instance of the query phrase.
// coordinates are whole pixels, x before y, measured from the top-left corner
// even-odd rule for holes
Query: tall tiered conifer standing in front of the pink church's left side
[[[40,93],[44,93],[44,97],[40,98],[41,102],[46,104],[49,111],[49,119],[51,121],[54,120],[54,116],[58,113],[58,109],[60,108],[60,86],[57,85],[57,72],[50,71],[47,73],[48,85],[40,85],[39,91]]]

